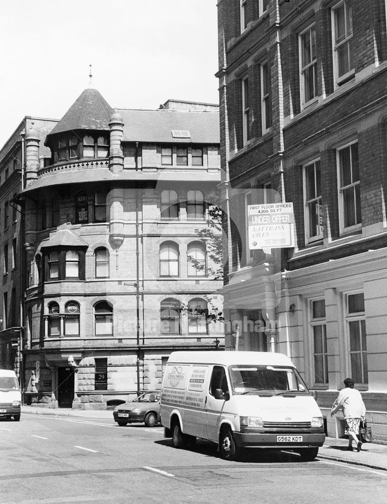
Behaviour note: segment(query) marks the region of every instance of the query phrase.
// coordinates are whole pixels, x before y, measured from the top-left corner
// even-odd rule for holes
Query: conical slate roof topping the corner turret
[[[96,89],[85,89],[50,135],[71,130],[108,130],[113,109]]]

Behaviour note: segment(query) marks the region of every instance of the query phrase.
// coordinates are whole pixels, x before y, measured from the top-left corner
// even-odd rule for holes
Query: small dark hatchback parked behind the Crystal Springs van
[[[121,427],[133,422],[154,427],[160,420],[160,392],[147,391],[131,402],[120,404],[114,408],[113,417]]]

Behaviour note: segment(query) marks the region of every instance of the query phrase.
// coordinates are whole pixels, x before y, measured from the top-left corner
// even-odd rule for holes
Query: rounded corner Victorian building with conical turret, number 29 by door
[[[112,110],[88,88],[44,138],[26,125],[14,201],[27,398],[34,371],[33,400],[103,408],[159,389],[173,349],[223,347],[206,317],[222,310],[222,282],[198,236],[220,181],[218,124],[216,105]]]

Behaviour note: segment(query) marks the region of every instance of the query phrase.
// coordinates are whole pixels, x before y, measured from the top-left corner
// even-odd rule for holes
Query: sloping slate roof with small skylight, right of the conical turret
[[[219,112],[118,109],[124,122],[124,142],[218,144]],[[188,130],[190,139],[172,137]]]

